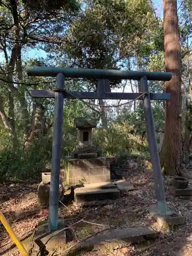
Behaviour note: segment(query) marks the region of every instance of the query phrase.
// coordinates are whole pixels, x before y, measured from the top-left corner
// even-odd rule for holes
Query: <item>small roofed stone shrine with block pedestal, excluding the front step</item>
[[[74,127],[78,129],[78,144],[76,151],[67,158],[67,182],[69,186],[110,182],[110,159],[97,157],[93,144],[92,129],[97,126],[97,119],[78,117]]]

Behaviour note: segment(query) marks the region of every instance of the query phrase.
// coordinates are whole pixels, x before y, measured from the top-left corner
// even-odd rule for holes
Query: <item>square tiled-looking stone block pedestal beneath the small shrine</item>
[[[110,182],[110,159],[105,157],[69,159],[67,170],[69,186]]]

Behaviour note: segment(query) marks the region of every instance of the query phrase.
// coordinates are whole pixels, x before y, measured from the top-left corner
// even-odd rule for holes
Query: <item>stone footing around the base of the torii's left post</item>
[[[47,243],[46,250],[48,250],[49,252],[53,252],[55,248],[65,249],[66,248],[66,230],[60,231],[59,233],[55,234],[55,232],[62,230],[63,228],[65,228],[65,222],[64,220],[61,220],[61,219],[58,220],[58,228],[56,231],[49,230],[48,220],[39,222],[36,233],[35,233],[35,237],[34,237],[34,240],[35,240],[34,250],[38,251],[39,246],[40,245],[42,246],[45,243]],[[52,237],[53,234],[55,234],[54,237]]]

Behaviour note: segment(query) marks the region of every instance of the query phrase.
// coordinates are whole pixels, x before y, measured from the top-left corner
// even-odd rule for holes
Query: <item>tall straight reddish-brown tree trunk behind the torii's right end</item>
[[[163,0],[165,69],[172,72],[166,81],[166,93],[171,100],[166,101],[165,137],[160,152],[161,165],[165,174],[176,172],[180,163],[181,150],[181,55],[177,16],[177,1]]]

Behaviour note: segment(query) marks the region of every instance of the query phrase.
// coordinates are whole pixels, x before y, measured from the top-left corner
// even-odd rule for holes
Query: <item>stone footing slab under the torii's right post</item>
[[[147,210],[157,221],[160,227],[163,227],[166,224],[170,226],[184,224],[184,217],[180,214],[177,214],[177,212],[172,209],[167,209],[166,214],[161,214],[157,206],[149,207]]]

